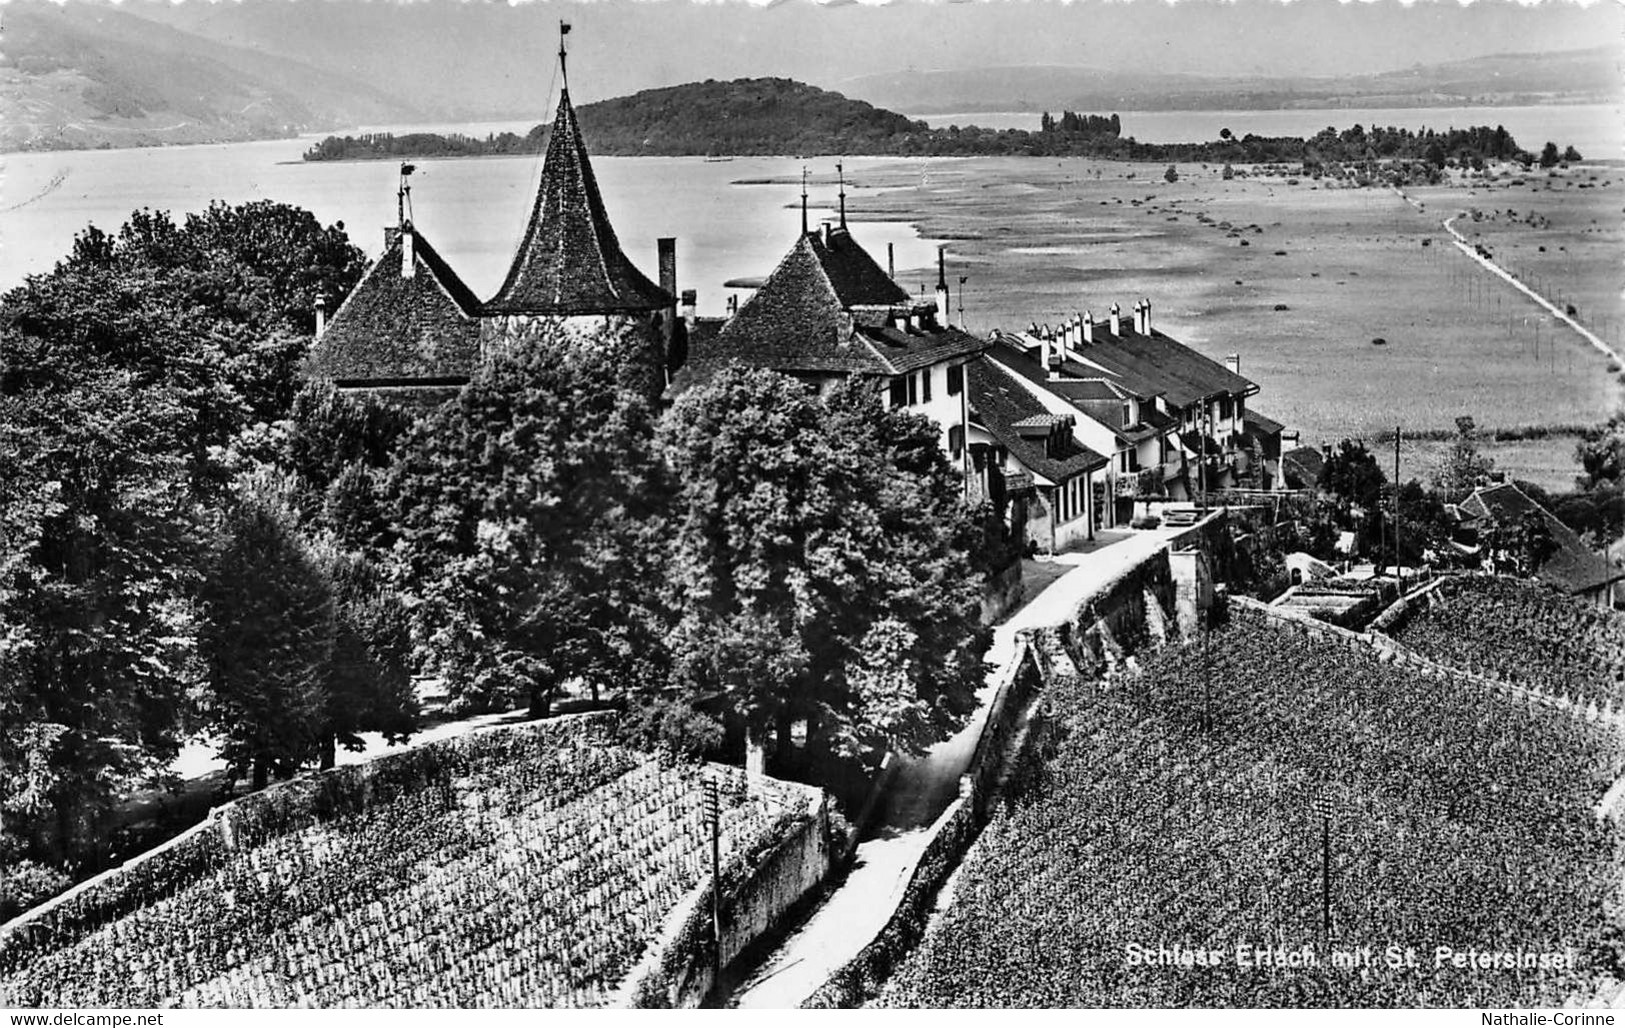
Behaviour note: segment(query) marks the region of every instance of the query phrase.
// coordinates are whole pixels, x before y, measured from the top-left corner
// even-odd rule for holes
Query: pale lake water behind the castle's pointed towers
[[[510,127],[460,130],[484,135]],[[395,222],[396,164],[302,162],[299,154],[315,138],[0,154],[5,185],[0,289],[26,274],[49,271],[88,224],[115,231],[136,208],[179,216],[205,208],[210,200],[271,198],[309,208],[323,224],[344,222],[349,237],[377,255],[384,226]],[[847,159],[848,179],[856,180],[848,184],[848,201],[861,198],[864,169],[881,161],[887,159]],[[679,287],[699,292],[700,313],[718,315],[728,294],[739,292],[723,283],[767,274],[795,242],[801,224],[801,164],[795,158],[593,158],[609,219],[627,255],[653,278],[655,239],[674,235]],[[416,166],[411,179],[416,224],[478,296],[494,294],[525,231],[540,156]],[[834,179],[832,158],[808,166],[821,179]],[[834,216],[834,182],[816,182],[808,192],[814,224]],[[934,266],[933,240],[921,239],[907,222],[853,219],[852,227],[882,263],[887,244],[895,245],[899,271]],[[934,281],[934,274],[930,278]]]

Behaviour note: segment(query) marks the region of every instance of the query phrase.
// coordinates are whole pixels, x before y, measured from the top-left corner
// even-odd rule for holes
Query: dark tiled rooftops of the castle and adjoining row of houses
[[[661,273],[665,279],[665,266]],[[369,387],[452,385],[476,369],[484,320],[673,310],[674,283],[663,284],[644,276],[621,250],[566,89],[536,201],[497,294],[479,300],[403,214],[387,232],[384,255],[320,335],[312,372]],[[1258,388],[1152,330],[1149,300],[1134,304],[1131,326],[1113,304],[1110,320],[1098,325],[1079,313],[1058,330],[1032,325],[993,339],[949,325],[946,300],[941,268],[936,302],[910,297],[852,237],[842,209],[840,224],[826,222],[822,231],[803,224],[790,252],[731,318],[691,320],[689,361],[673,388],[728,364],[814,377],[899,377],[975,359],[967,383],[978,416],[1046,477],[1068,477],[1107,458],[1076,440],[1060,440],[1060,434],[1072,438],[1069,425],[1011,375],[1063,396],[1129,443],[1175,424],[1157,409],[1155,396],[1178,409]],[[1123,425],[1121,406],[1129,396],[1142,401],[1139,422]]]

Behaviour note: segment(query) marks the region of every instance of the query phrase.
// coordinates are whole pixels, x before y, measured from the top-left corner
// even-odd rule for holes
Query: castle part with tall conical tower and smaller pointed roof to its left
[[[436,404],[517,341],[562,335],[658,396],[681,361],[676,240],[658,240],[660,284],[621,250],[604,209],[569,86],[559,94],[541,184],[497,294],[481,302],[411,221],[403,167],[396,224],[384,253],[327,322],[318,310],[307,374],[341,391]],[[325,323],[323,323],[325,322]]]

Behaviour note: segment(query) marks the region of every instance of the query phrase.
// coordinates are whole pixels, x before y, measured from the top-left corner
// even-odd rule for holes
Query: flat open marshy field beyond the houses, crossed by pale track
[[[1409,188],[1406,198],[1331,179],[1225,180],[1219,166],[1201,164],[1178,166],[1178,180],[1167,182],[1165,167],[897,162],[864,172],[860,185],[874,188],[855,190],[853,209],[913,221],[946,242],[951,286],[968,278],[973,331],[1056,323],[1086,309],[1102,318],[1113,300],[1128,317],[1150,297],[1160,330],[1216,359],[1240,354],[1261,388],[1258,409],[1306,443],[1394,424],[1450,429],[1461,414],[1487,429],[1594,424],[1620,403],[1618,370],[1606,357],[1477,268],[1441,227],[1472,208],[1536,214],[1534,224],[1469,216],[1458,227],[1497,232],[1487,239],[1497,257],[1505,252],[1599,335],[1618,338],[1618,169],[1505,174]],[[921,268],[899,278],[930,286],[936,276]],[[1497,448],[1487,447],[1490,456]],[[1566,484],[1571,453],[1571,435],[1554,437],[1519,445],[1519,463]]]

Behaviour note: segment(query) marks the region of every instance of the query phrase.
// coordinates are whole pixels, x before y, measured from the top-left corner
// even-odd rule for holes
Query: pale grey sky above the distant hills
[[[470,84],[551,71],[557,21],[578,99],[777,75],[838,88],[882,71],[1077,65],[1193,75],[1352,75],[1625,37],[1625,5],[1597,0],[125,0],[180,28],[252,23],[310,47],[413,62]],[[154,6],[156,3],[156,6]],[[320,28],[317,28],[320,26]],[[299,39],[301,32],[304,34]],[[247,41],[247,37],[244,37]],[[479,54],[478,65],[470,55]],[[358,65],[366,62],[358,58]],[[528,71],[525,78],[531,78]]]

